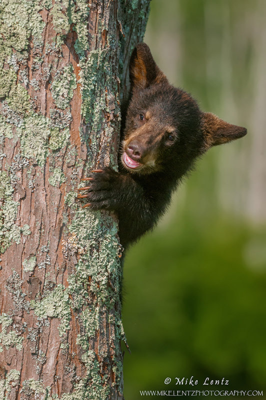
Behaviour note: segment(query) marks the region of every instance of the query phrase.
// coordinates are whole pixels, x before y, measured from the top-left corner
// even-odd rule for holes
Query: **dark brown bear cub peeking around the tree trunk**
[[[202,112],[185,91],[173,87],[149,47],[138,44],[130,59],[130,100],[121,131],[118,172],[92,170],[78,198],[83,206],[115,211],[125,248],[151,229],[172,191],[195,159],[211,146],[246,134],[216,115]]]

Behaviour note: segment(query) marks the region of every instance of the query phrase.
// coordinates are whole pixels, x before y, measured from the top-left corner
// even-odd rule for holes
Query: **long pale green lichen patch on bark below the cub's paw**
[[[113,324],[116,330],[117,343],[115,353],[119,353],[119,341],[122,336],[120,329],[121,319],[119,313],[114,316],[109,315],[109,311],[115,308],[115,303],[119,301],[119,269],[117,268],[117,253],[119,244],[113,239],[117,226],[112,221],[108,227],[102,223],[100,212],[88,213],[79,209],[69,226],[69,232],[74,235],[78,243],[80,258],[75,266],[75,271],[69,276],[69,293],[72,298],[73,309],[82,309],[80,320],[84,327],[82,335],[78,335],[77,344],[84,350],[82,361],[87,369],[87,377],[90,379],[89,388],[83,387],[81,390],[75,386],[73,395],[65,395],[66,399],[87,398],[91,400],[101,400],[108,398],[110,387],[103,385],[107,376],[100,377],[100,365],[98,356],[101,359],[107,356],[107,349],[99,349],[99,354],[89,349],[89,338],[93,337],[99,329],[100,321],[107,315],[107,322]],[[95,239],[102,236],[100,249],[95,248]],[[105,267],[103,267],[105,265]],[[109,284],[109,279],[112,284]],[[87,281],[90,278],[90,292],[88,293]],[[95,304],[86,305],[90,295],[95,295]],[[116,376],[121,376],[122,363],[114,359],[112,368],[117,372]],[[118,382],[117,382],[118,383]],[[75,397],[77,395],[77,397]],[[80,397],[79,397],[80,396]],[[85,396],[85,397],[82,397]]]

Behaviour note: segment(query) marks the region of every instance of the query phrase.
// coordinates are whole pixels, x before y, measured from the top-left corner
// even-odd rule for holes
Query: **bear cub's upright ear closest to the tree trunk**
[[[145,89],[153,83],[168,84],[166,76],[156,65],[150,49],[145,43],[137,44],[132,52],[129,77],[132,90]]]

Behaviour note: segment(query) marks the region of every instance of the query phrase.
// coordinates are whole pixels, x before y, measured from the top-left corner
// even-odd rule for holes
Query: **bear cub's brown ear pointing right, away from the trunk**
[[[211,112],[202,112],[202,131],[205,149],[238,139],[246,134],[243,126],[232,125]]]

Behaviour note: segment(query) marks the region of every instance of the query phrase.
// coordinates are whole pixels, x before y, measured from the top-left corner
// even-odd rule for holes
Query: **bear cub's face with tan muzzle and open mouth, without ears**
[[[162,83],[133,91],[122,153],[129,171],[176,170],[178,160],[198,155],[201,141],[200,111],[186,92]]]

